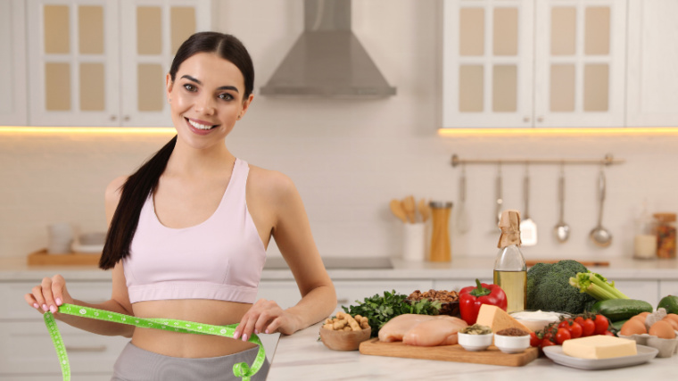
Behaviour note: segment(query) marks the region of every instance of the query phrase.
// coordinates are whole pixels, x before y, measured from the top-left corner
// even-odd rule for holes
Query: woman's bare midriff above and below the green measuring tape
[[[225,326],[240,323],[252,304],[207,299],[148,301],[132,304],[140,318],[166,318]],[[169,332],[160,329],[136,328],[132,344],[146,351],[182,358],[225,356],[255,347],[242,340],[216,336]]]

